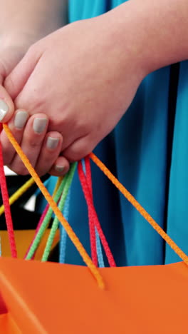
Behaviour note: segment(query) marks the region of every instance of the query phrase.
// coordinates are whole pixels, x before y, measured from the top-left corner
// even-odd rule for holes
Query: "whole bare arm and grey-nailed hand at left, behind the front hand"
[[[14,103],[3,86],[4,79],[21,61],[31,44],[51,33],[51,31],[58,29],[62,24],[66,24],[66,15],[62,20],[60,10],[62,6],[66,5],[67,1],[64,1],[64,3],[58,0],[53,1],[53,4],[56,5],[53,6],[53,11],[47,6],[49,2],[42,0],[38,5],[36,1],[0,1],[1,13],[4,14],[0,22],[0,98],[9,106],[11,113],[14,113]],[[18,11],[18,6],[21,11]],[[44,15],[41,19],[42,12],[45,12],[43,14],[45,14],[48,24]],[[21,144],[21,148],[39,175],[49,172],[52,167],[53,175],[63,175],[68,171],[69,164],[65,158],[59,157],[63,142],[61,134],[57,131],[48,131],[48,116],[42,113],[29,116],[23,108],[17,110],[9,121],[11,132]],[[35,131],[38,125],[43,130],[40,133]],[[16,173],[28,173],[14,148],[10,145],[4,131],[1,133],[1,141],[4,143],[4,164]],[[63,170],[61,168],[62,163]]]

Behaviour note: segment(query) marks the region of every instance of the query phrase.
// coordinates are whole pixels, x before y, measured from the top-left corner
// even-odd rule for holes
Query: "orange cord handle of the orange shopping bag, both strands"
[[[98,270],[98,268],[96,268],[96,266],[94,265],[90,256],[88,255],[88,253],[83,248],[83,245],[80,243],[78,237],[73,232],[73,229],[69,225],[68,221],[66,221],[66,219],[63,217],[61,211],[59,211],[58,206],[53,201],[53,198],[48,193],[45,186],[43,186],[43,183],[41,182],[41,179],[39,178],[38,174],[34,170],[33,166],[31,166],[31,163],[28,161],[28,158],[23,153],[21,147],[19,146],[19,143],[17,143],[16,139],[12,135],[12,133],[11,133],[11,131],[10,131],[10,129],[7,126],[6,123],[3,124],[3,128],[4,128],[4,131],[6,132],[6,136],[9,138],[9,141],[14,146],[16,152],[19,154],[19,156],[20,156],[21,160],[23,161],[24,165],[26,166],[29,173],[31,174],[31,176],[35,180],[38,188],[40,188],[41,193],[43,193],[43,196],[46,198],[46,201],[48,201],[51,208],[53,208],[53,212],[56,214],[56,216],[58,217],[58,220],[61,222],[61,224],[65,228],[69,238],[71,238],[71,241],[73,242],[73,244],[77,248],[78,252],[82,256],[85,264],[88,265],[88,268],[90,269],[91,273],[93,274],[93,276],[97,280],[98,285],[100,286],[100,288],[104,288],[105,285],[104,285],[104,282],[103,282],[103,278],[100,275],[100,271]],[[152,228],[154,228],[155,231],[157,231],[157,233],[159,233],[160,236],[164,239],[164,241],[166,241],[168,243],[168,245],[174,250],[174,252],[177,253],[177,255],[179,255],[179,258],[181,258],[184,261],[184,263],[186,263],[188,265],[188,256],[181,250],[181,248],[179,248],[179,246],[177,246],[176,243],[174,243],[172,238],[170,238],[167,235],[167,233],[164,232],[164,230],[150,216],[150,214],[147,213],[147,211],[145,211],[145,209],[140,205],[140,203],[137,202],[137,200],[134,198],[134,196],[132,196],[131,193],[129,191],[127,191],[127,189],[124,186],[122,186],[122,183],[120,183],[120,181],[118,181],[117,178],[115,178],[113,173],[111,173],[109,171],[109,169],[104,165],[104,163],[102,161],[100,161],[100,159],[97,156],[95,156],[94,153],[90,153],[89,156],[93,160],[93,162],[101,169],[101,171],[103,171],[105,176],[107,176],[110,179],[110,181],[116,186],[116,188],[122,193],[122,195],[125,196],[125,198],[127,198],[127,201],[129,201],[132,204],[132,206],[134,206],[137,209],[137,211],[146,219],[146,221],[148,223],[150,223]]]

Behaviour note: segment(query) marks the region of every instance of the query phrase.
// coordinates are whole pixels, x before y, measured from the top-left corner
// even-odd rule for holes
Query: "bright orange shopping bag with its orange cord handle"
[[[97,268],[25,161],[88,268],[0,258],[0,333],[187,333],[187,255],[93,153],[90,158],[184,262]]]

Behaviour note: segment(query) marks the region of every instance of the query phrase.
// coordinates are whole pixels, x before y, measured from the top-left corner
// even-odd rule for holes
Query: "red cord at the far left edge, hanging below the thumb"
[[[0,124],[0,133],[1,131],[2,131],[2,124]],[[0,141],[0,186],[1,186],[1,196],[3,198],[3,203],[4,203],[4,213],[5,213],[6,226],[11,248],[11,256],[13,258],[16,258],[17,257],[16,242],[14,238],[14,228],[11,218],[11,208],[9,205],[9,193],[6,186],[6,176],[4,173],[4,160],[3,160],[1,141]]]

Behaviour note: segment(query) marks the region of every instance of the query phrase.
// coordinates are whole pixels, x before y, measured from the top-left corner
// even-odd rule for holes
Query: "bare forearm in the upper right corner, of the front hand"
[[[145,74],[188,59],[187,0],[130,0],[110,15],[122,52],[131,52]]]

